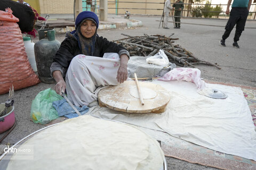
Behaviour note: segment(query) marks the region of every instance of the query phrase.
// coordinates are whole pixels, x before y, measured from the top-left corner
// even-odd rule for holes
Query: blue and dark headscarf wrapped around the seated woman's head
[[[92,20],[96,24],[96,31],[91,38],[86,38],[82,35],[80,28],[81,28],[81,24],[85,20]],[[99,18],[94,12],[83,11],[77,15],[77,18],[75,21],[76,30],[72,31],[71,35],[73,35],[77,39],[78,46],[84,55],[89,55],[89,56],[93,55],[98,27],[99,27]]]

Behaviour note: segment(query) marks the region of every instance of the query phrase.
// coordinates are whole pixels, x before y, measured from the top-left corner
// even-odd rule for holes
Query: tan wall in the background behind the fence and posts
[[[82,0],[81,0],[82,1]],[[86,0],[83,0],[86,1]],[[96,7],[99,7],[99,0],[97,1]],[[107,1],[107,0],[106,0]],[[118,3],[118,1],[120,1]],[[51,18],[74,18],[74,0],[27,0],[31,6],[33,6],[38,13],[42,16],[45,14],[50,14]],[[117,3],[116,3],[117,2]],[[123,3],[123,2],[134,2],[134,3]],[[135,3],[142,2],[142,3]],[[108,14],[124,14],[125,11],[129,11],[131,14],[146,14],[146,15],[162,15],[164,8],[165,0],[108,0]],[[175,0],[171,0],[173,4]],[[189,0],[183,0],[183,3],[188,3]],[[83,2],[85,3],[85,2]],[[150,4],[152,3],[152,4]],[[154,3],[154,4],[153,4]],[[255,3],[254,3],[255,4]],[[119,9],[116,11],[116,7]],[[186,7],[186,5],[185,5]],[[226,6],[223,7],[223,9]],[[133,8],[133,9],[129,9]],[[134,8],[148,8],[148,10],[138,10]],[[154,9],[154,10],[149,10]],[[187,8],[185,8],[187,10]],[[83,8],[85,11],[86,8]],[[251,12],[256,11],[256,6],[251,6]],[[96,13],[99,13],[99,9],[95,10]],[[182,16],[187,16],[187,11],[182,11]],[[249,16],[248,19],[255,19],[255,13],[252,16]]]

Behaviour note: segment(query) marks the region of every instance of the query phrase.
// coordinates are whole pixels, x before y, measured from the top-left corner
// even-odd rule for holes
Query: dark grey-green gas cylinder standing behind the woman
[[[53,56],[60,48],[60,42],[55,40],[55,30],[41,29],[38,30],[39,41],[35,43],[35,58],[39,79],[44,83],[55,83],[51,77],[50,67]]]

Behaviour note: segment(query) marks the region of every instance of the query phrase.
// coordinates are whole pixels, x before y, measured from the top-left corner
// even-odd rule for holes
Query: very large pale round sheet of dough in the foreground
[[[19,149],[34,146],[33,160],[14,154],[7,169],[154,169],[163,166],[159,143],[135,126],[79,116],[47,128]]]

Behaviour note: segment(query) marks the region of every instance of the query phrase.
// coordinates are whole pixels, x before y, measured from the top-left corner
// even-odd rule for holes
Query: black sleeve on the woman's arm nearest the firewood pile
[[[104,53],[118,53],[119,56],[126,54],[130,58],[130,53],[126,48],[121,45],[118,45],[114,42],[107,40],[107,38],[99,38],[99,47],[101,48],[102,54]]]

